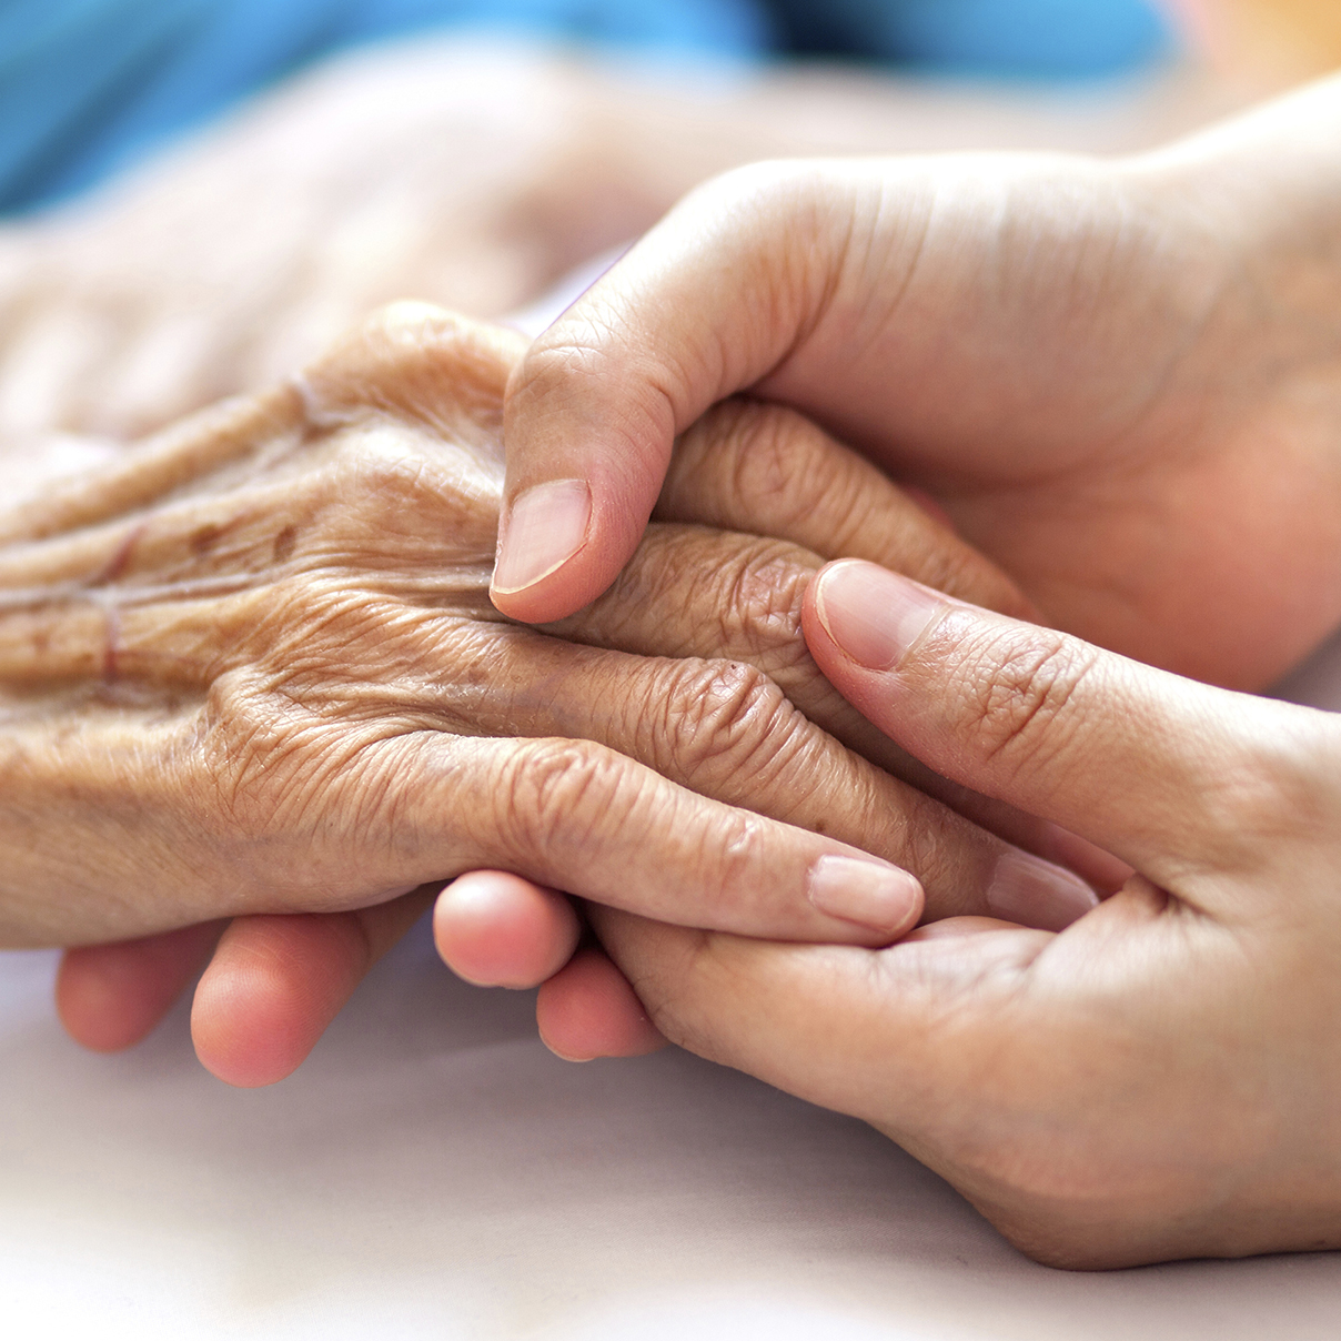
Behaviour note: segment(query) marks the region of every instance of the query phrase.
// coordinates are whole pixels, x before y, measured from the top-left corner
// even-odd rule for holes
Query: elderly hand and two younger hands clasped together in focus
[[[492,514],[461,539],[520,350],[422,312],[137,453],[102,504],[24,510],[8,767],[51,838],[15,907],[58,936],[243,915],[197,1042],[264,1080],[424,882],[500,868],[449,886],[440,944],[547,979],[561,1051],[656,1026],[872,1121],[1042,1261],[1337,1244],[1334,719],[1011,617],[1244,687],[1334,625],[1317,141],[1238,184],[1273,118],[1336,101],[1134,165],[762,170],[687,201],[512,374],[493,598],[544,633],[484,599]],[[742,388],[933,492],[1025,595],[787,410],[700,421]],[[135,767],[194,779],[185,806]],[[118,854],[97,880],[90,833]],[[611,959],[569,959],[555,888]],[[122,947],[118,999],[152,1019],[205,939]],[[68,960],[76,1033],[80,964],[106,984],[117,953]],[[248,1011],[278,1025],[249,1075]]]

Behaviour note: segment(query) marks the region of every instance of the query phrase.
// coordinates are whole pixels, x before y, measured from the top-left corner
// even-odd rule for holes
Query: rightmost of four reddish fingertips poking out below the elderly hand
[[[644,1057],[666,1046],[642,1002],[599,949],[583,949],[540,986],[535,1002],[540,1041],[569,1062]]]

